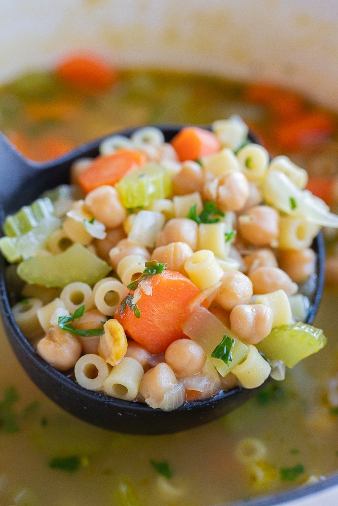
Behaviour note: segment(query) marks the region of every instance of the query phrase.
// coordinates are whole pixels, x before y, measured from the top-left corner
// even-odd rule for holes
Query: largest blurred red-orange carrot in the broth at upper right
[[[293,151],[326,141],[334,130],[334,121],[328,114],[314,111],[276,125],[273,134],[282,149]]]

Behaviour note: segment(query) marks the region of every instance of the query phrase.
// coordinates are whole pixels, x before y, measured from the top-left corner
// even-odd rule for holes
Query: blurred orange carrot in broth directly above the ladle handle
[[[22,133],[13,132],[8,138],[26,158],[40,162],[58,158],[75,147],[70,141],[51,134],[28,139]]]

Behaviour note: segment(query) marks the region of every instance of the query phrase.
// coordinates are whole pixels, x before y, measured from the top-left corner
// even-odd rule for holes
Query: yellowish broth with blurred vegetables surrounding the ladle
[[[333,113],[272,86],[105,65],[109,79],[84,89],[62,68],[2,88],[1,128],[26,155],[53,157],[130,124],[239,114],[274,157],[307,169],[308,188],[334,210]],[[334,262],[335,233],[326,238]],[[231,415],[170,436],[119,435],[70,417],[27,381],[2,332],[1,502],[203,506],[325,479],[337,470],[336,302],[327,289],[315,322],[328,338],[319,354]]]

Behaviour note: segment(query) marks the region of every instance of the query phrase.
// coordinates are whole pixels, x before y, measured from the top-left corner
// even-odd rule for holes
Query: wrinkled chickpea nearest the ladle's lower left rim
[[[51,327],[36,345],[39,355],[59,371],[73,367],[81,356],[81,343],[76,335]]]

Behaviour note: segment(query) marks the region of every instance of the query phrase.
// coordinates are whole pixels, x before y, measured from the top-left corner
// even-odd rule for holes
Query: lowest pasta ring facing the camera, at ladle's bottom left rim
[[[74,366],[77,382],[88,390],[99,390],[109,374],[105,360],[94,353],[83,355]]]

